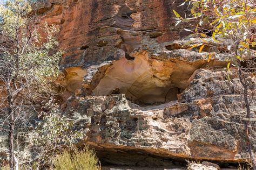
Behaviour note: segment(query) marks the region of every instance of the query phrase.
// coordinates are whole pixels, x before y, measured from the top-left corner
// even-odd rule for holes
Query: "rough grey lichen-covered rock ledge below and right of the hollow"
[[[190,85],[179,94],[179,101],[157,106],[140,107],[123,94],[71,97],[64,114],[75,121],[76,129],[85,134],[87,143],[99,151],[242,161],[248,157],[241,121],[245,105],[238,77],[232,76],[235,86],[226,80],[225,72],[199,69]],[[250,75],[248,79],[252,81]],[[254,88],[252,81],[250,89]],[[255,111],[252,101],[252,117]],[[255,128],[251,127],[254,151]],[[127,164],[122,158],[102,159],[107,164]],[[137,159],[134,164],[140,161]]]

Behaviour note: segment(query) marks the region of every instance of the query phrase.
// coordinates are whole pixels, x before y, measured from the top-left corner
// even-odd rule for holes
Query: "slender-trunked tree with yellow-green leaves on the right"
[[[254,153],[252,151],[249,124],[250,124],[250,105],[253,101],[254,93],[248,94],[249,81],[245,72],[255,75],[255,31],[256,31],[256,8],[255,2],[251,0],[186,0],[180,4],[183,6],[188,4],[191,12],[185,13],[185,17],[181,17],[179,13],[173,10],[176,16],[176,26],[180,23],[187,23],[194,30],[185,29],[191,32],[189,37],[201,37],[204,44],[194,44],[191,48],[198,47],[199,53],[208,46],[204,38],[211,38],[218,46],[224,49],[222,52],[227,56],[227,71],[234,66],[237,69],[239,81],[244,87],[244,102],[246,107],[245,122],[245,138],[250,154],[252,167],[256,169]],[[193,23],[193,24],[192,24]],[[217,46],[213,46],[218,49]],[[206,56],[211,58],[211,55]],[[242,67],[242,63],[246,65]],[[230,80],[230,75],[228,74]],[[250,99],[251,98],[251,99]]]

